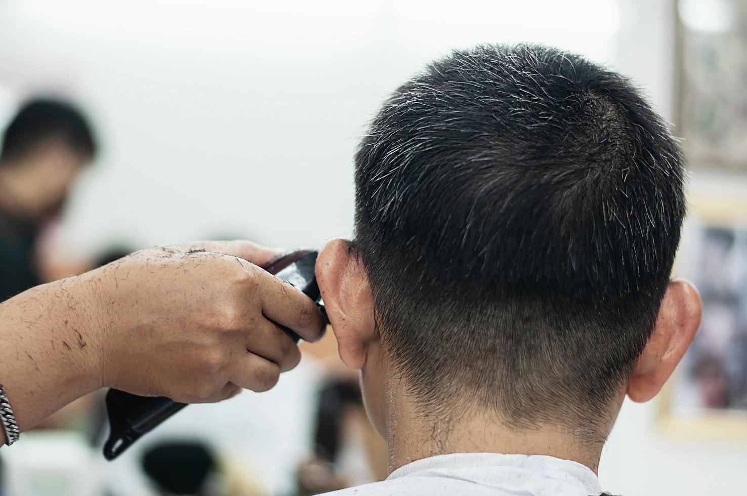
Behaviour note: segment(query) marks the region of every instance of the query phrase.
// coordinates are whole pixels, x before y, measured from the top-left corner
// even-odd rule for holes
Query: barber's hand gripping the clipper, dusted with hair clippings
[[[309,297],[257,265],[248,241],[144,249],[81,276],[98,301],[102,385],[184,403],[266,391],[323,332]],[[255,265],[256,264],[256,265]]]

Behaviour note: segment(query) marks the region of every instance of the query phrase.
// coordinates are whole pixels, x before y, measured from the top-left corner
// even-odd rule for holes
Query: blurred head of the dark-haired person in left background
[[[20,108],[5,128],[0,174],[5,192],[25,217],[54,214],[80,170],[96,155],[89,123],[72,105],[34,99]]]

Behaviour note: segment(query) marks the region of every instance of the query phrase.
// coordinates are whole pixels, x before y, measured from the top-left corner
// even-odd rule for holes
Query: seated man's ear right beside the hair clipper
[[[317,283],[340,358],[350,368],[363,368],[368,347],[376,343],[376,324],[368,277],[350,241],[325,245],[317,258]]]

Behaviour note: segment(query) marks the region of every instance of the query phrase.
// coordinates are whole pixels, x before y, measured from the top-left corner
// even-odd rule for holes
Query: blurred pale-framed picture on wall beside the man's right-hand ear
[[[695,283],[703,317],[662,391],[658,424],[685,437],[747,440],[747,193],[698,195],[674,276]]]

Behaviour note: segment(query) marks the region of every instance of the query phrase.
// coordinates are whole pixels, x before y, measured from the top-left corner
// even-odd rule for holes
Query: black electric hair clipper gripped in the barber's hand
[[[318,304],[320,292],[314,276],[317,255],[312,250],[292,252],[273,259],[262,268],[294,285]],[[323,311],[323,307],[320,306],[320,309]],[[300,340],[291,329],[280,327],[296,342]],[[143,434],[149,433],[185,406],[187,403],[178,403],[167,397],[142,397],[110,389],[106,394],[110,433],[104,444],[105,459],[111,461],[117,458]]]

